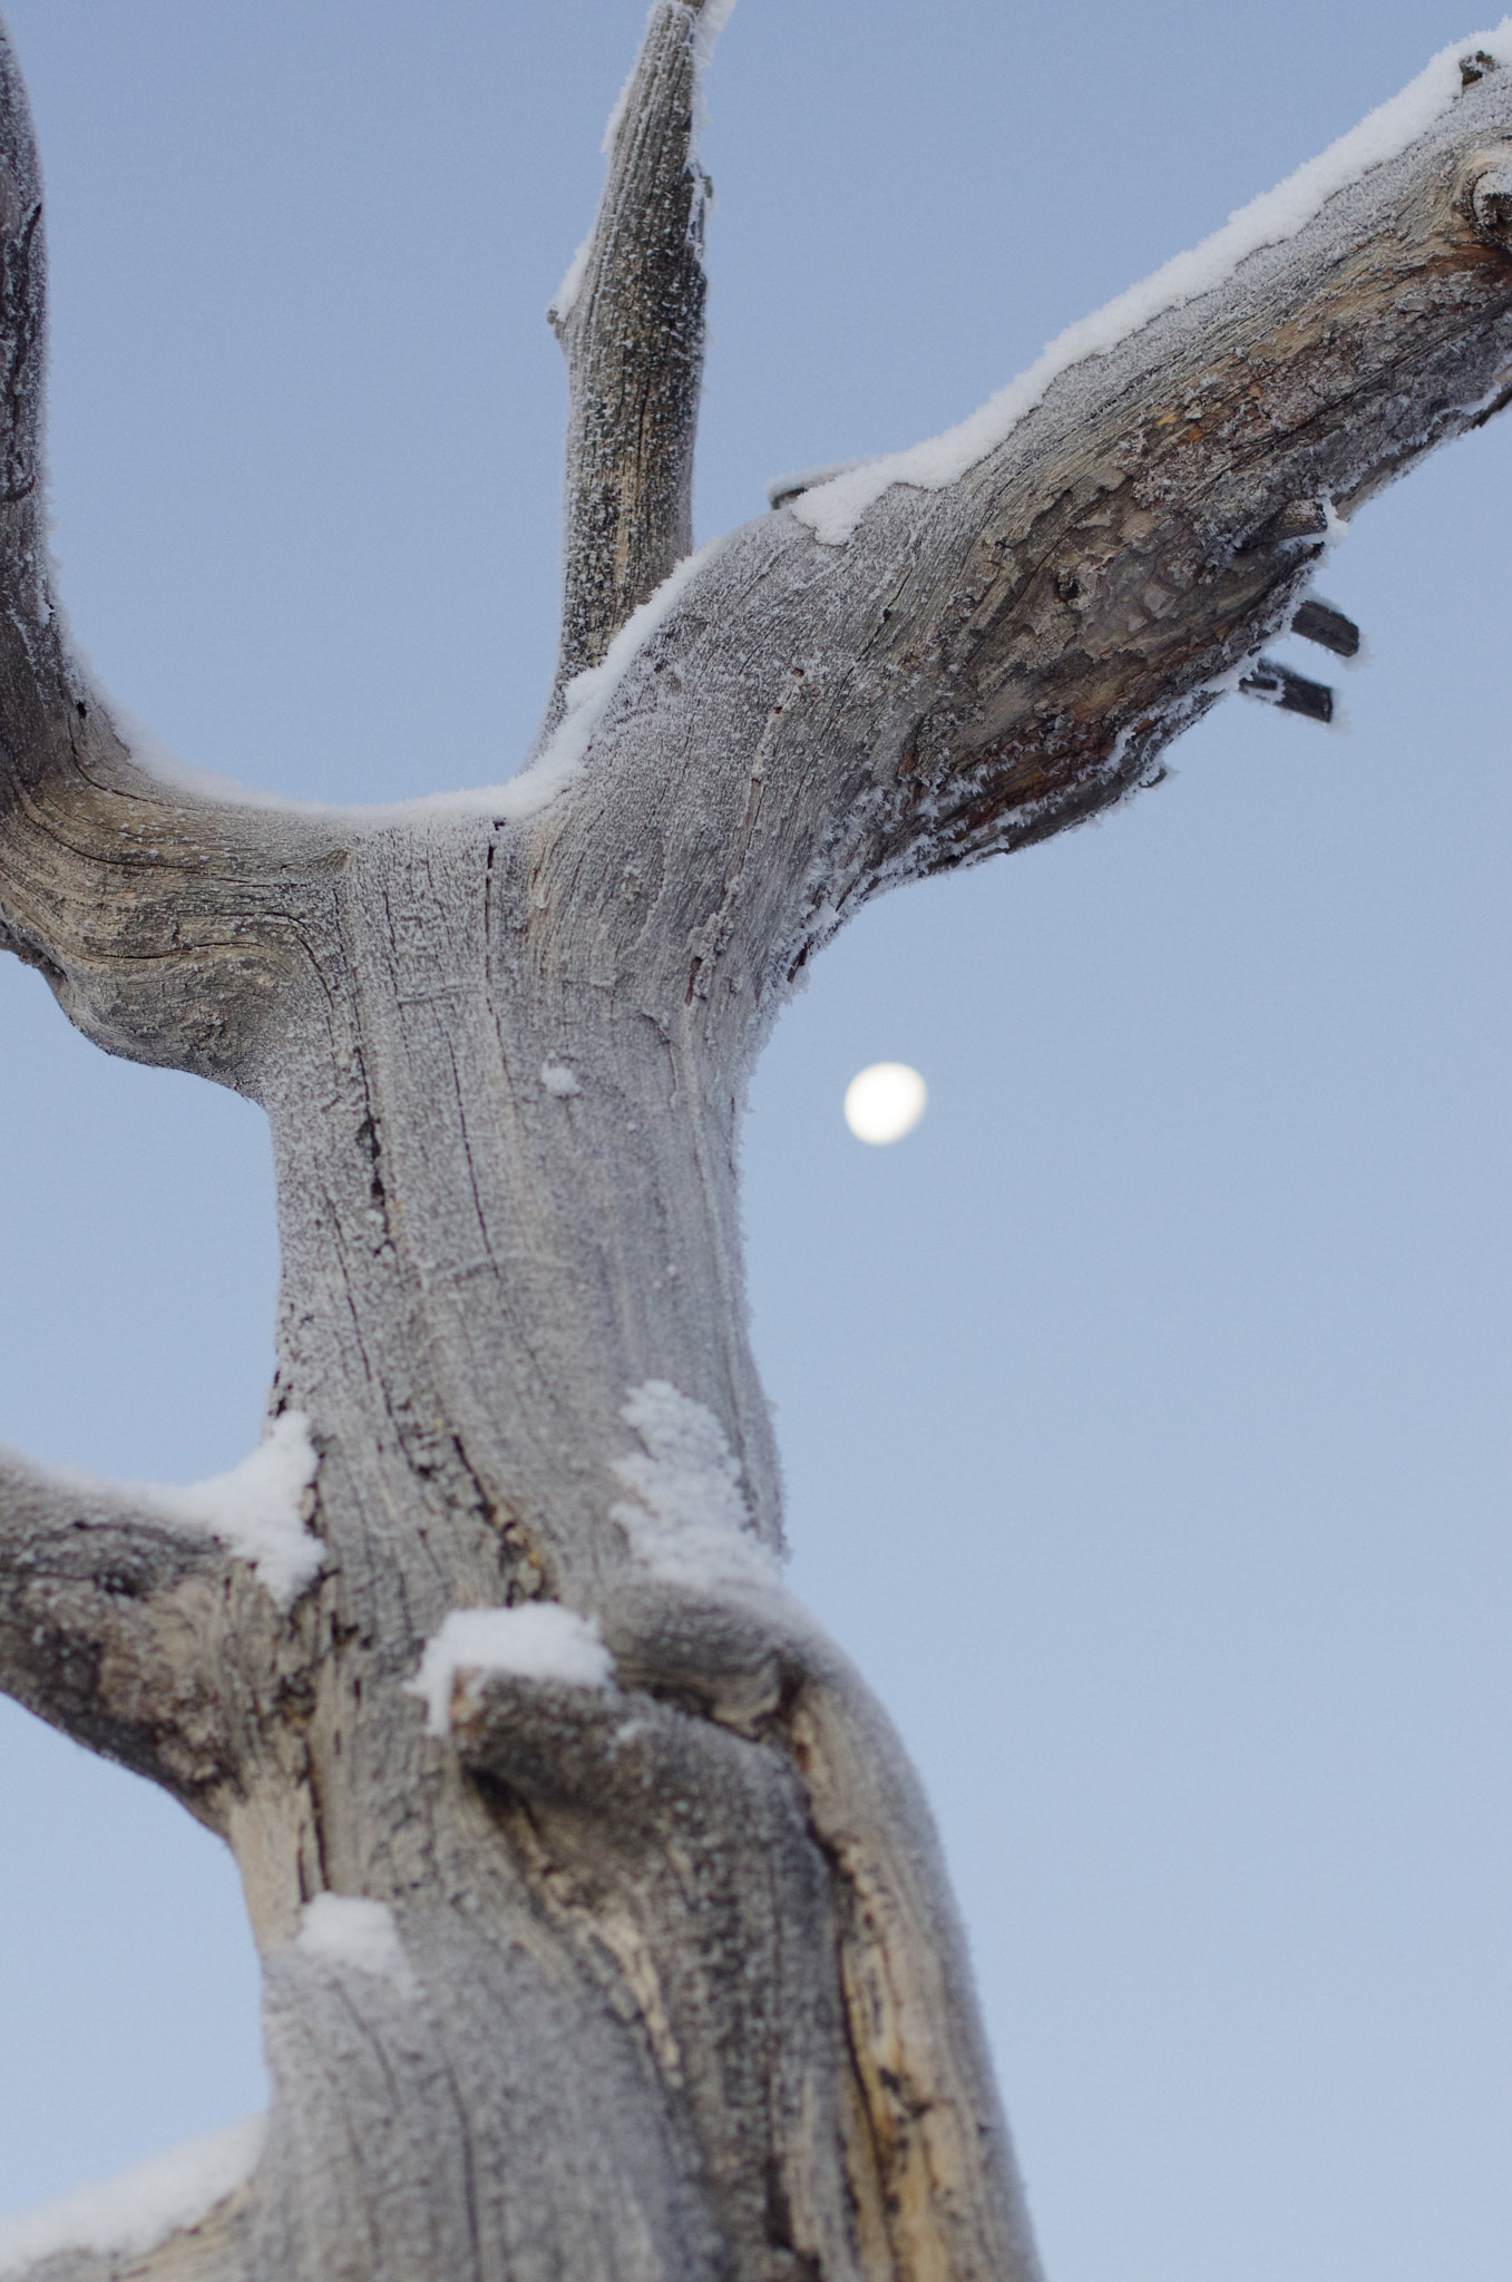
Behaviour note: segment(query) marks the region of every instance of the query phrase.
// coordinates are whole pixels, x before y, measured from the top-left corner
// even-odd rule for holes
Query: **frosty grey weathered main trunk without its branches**
[[[333,1575],[233,1810],[278,2081],[260,2273],[860,2275],[889,2225],[910,2271],[1031,2271],[928,1821],[762,1579],[748,1052],[689,1006],[707,885],[643,885],[657,837],[374,833],[271,1054],[278,1399],[317,1422]],[[677,1390],[650,1449],[645,1385]],[[750,1529],[723,1593],[604,1511],[714,1422]],[[429,1737],[426,1638],[536,1595],[600,1620],[620,1689],[493,1680]],[[413,1994],[294,1947],[326,1889],[392,1905]]]

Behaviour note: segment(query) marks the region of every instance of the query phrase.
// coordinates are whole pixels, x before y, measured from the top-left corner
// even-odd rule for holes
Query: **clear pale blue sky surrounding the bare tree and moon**
[[[64,593],[182,760],[520,758],[545,301],[641,0],[9,0]],[[741,0],[700,536],[905,445],[1469,30],[1437,5]],[[794,1584],[926,1773],[1051,2282],[1482,2282],[1512,2241],[1512,427],[1327,570],[1348,735],[1225,703],[1092,831],[873,908],[755,1089]],[[1327,673],[1323,653],[1311,671]],[[0,1438],[235,1463],[258,1111],[0,968]],[[928,1079],[869,1150],[862,1063]],[[0,1709],[0,2211],[262,2099],[228,1860]]]

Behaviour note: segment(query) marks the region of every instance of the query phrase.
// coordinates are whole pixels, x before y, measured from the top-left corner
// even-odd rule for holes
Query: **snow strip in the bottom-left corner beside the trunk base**
[[[265,2138],[267,2115],[249,2115],[228,2131],[187,2141],[98,2186],[0,2218],[0,2275],[64,2250],[146,2257],[242,2186],[258,2166]]]

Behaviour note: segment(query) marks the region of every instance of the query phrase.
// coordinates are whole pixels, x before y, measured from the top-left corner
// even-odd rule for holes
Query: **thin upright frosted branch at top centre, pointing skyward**
[[[693,545],[705,347],[700,80],[723,0],[661,0],[609,121],[593,233],[550,310],[568,358],[563,685]]]

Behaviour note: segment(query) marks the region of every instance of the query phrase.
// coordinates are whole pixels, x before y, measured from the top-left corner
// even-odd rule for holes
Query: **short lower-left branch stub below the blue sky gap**
[[[260,1597],[210,1534],[0,1449],[0,1689],[219,1832],[253,1730],[226,1641]]]

